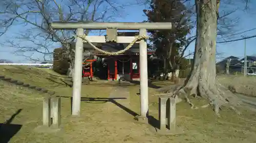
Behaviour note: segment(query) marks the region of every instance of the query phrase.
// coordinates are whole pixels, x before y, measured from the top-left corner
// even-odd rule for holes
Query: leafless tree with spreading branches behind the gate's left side
[[[55,42],[65,48],[70,60],[70,75],[74,67],[74,49],[71,43],[75,31],[52,30],[52,21],[109,21],[124,6],[114,0],[2,0],[0,3],[0,35],[8,32],[11,26],[24,26],[12,36],[4,46],[17,48],[19,53],[40,53],[45,59],[53,55]],[[90,31],[86,30],[85,34]],[[25,54],[26,55],[26,54]],[[26,55],[27,56],[27,55]],[[37,60],[28,56],[30,60]]]

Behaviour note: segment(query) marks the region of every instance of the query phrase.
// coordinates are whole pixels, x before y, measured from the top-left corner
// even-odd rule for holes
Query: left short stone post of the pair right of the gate
[[[160,121],[160,130],[165,131],[166,130],[166,101],[167,97],[159,97],[159,113],[158,113],[158,118]]]

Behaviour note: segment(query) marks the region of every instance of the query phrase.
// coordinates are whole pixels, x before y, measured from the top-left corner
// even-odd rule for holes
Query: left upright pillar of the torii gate
[[[83,35],[83,28],[78,28],[76,35]],[[81,38],[76,39],[75,49],[75,69],[73,79],[73,101],[72,101],[72,116],[80,115],[81,102],[81,86],[82,86],[82,55],[83,55],[83,41]]]

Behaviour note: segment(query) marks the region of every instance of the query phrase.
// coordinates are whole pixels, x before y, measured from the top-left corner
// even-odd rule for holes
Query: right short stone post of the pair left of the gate
[[[58,128],[60,125],[60,97],[52,98],[52,126]]]

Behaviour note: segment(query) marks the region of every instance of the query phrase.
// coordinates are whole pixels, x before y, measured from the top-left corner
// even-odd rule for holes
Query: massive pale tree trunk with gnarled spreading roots
[[[221,105],[225,103],[237,105],[238,100],[216,79],[217,0],[195,1],[197,4],[197,39],[194,65],[183,87],[177,89],[175,95],[185,95],[191,108],[195,107],[188,97],[194,94],[199,95],[209,100],[209,104],[202,107],[214,105],[215,112],[219,115]],[[233,106],[230,107],[233,108]]]

